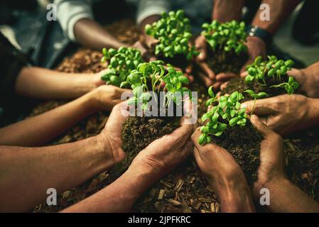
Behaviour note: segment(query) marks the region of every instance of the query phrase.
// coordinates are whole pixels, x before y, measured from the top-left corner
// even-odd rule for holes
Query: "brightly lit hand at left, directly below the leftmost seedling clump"
[[[123,101],[121,100],[121,94],[123,94],[123,92],[131,92],[131,90],[120,89],[113,85],[102,85],[88,95],[90,96],[92,108],[95,111],[111,111],[113,106]]]

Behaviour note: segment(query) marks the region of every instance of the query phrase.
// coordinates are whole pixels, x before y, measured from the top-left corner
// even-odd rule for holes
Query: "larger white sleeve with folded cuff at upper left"
[[[55,0],[57,18],[65,35],[75,40],[74,26],[82,18],[93,19],[92,3],[90,0]]]

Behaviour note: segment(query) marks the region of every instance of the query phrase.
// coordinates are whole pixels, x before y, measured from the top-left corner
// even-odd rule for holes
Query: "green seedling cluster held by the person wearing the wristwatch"
[[[244,44],[247,38],[244,22],[212,21],[210,24],[204,23],[202,28],[205,29],[202,35],[205,36],[212,50],[223,49],[227,52],[233,50],[237,55],[242,51],[247,52],[247,46]]]

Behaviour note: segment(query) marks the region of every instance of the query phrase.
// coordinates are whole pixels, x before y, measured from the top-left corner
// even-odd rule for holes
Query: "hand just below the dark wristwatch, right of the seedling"
[[[247,37],[247,48],[248,48],[248,60],[246,64],[242,67],[241,70],[241,77],[247,76],[247,66],[252,64],[254,62],[255,58],[258,56],[261,56],[263,59],[266,58],[266,44],[264,40],[261,40],[261,38],[258,38],[256,36],[254,37]]]

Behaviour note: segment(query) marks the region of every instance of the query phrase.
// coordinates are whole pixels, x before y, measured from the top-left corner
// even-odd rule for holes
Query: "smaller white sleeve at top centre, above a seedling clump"
[[[167,12],[169,9],[170,3],[168,0],[139,0],[136,22],[140,24],[148,16],[161,15],[163,11]]]

